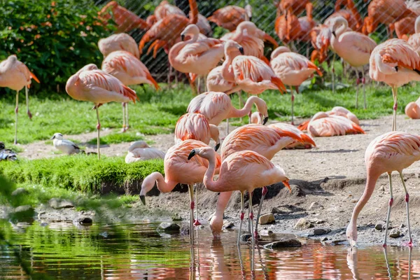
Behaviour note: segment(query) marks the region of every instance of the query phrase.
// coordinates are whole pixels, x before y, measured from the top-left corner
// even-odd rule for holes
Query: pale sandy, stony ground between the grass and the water
[[[276,212],[276,224],[262,225],[260,230],[267,232],[292,232],[297,235],[311,236],[314,228],[306,230],[294,229],[295,223],[300,218],[306,218],[311,226],[315,228],[326,228],[331,230],[328,235],[321,235],[316,238],[331,240],[346,239],[344,230],[349,223],[351,211],[356,204],[365,184],[365,148],[375,137],[391,131],[391,116],[377,120],[361,120],[360,126],[367,134],[347,135],[345,137],[316,138],[317,147],[311,150],[283,150],[277,153],[272,162],[280,165],[290,179],[292,193],[290,194],[282,186],[273,187],[267,194],[267,200],[263,207],[263,213]],[[420,134],[420,123],[416,120],[409,120],[405,116],[398,116],[398,130]],[[102,133],[104,135],[107,132]],[[108,132],[109,133],[109,132]],[[96,136],[96,133],[71,135],[68,138],[78,139],[82,143]],[[173,145],[173,134],[155,135],[146,137],[147,140],[155,142],[153,146],[166,151]],[[221,138],[225,137],[224,123],[221,125]],[[105,155],[125,155],[130,144],[117,144],[102,147]],[[54,155],[54,147],[45,145],[43,141],[29,145],[22,145],[25,149],[20,156],[26,158],[42,158]],[[94,146],[87,146],[87,151],[94,151]],[[415,163],[412,167],[405,169],[406,184],[410,193],[410,212],[412,213],[412,233],[414,242],[419,243],[420,238],[420,216],[416,213],[420,210],[420,165]],[[402,237],[388,240],[389,244],[400,244],[407,239],[407,221],[405,215],[405,201],[402,184],[398,174],[393,176],[394,206],[391,214],[391,225],[394,230],[399,230]],[[199,188],[200,197],[198,207],[200,217],[207,223],[215,209],[217,194],[208,192],[202,187]],[[259,202],[260,192],[255,191],[254,204]],[[377,190],[365,206],[358,219],[359,241],[363,244],[380,243],[384,237],[383,230],[375,230],[377,222],[386,219],[388,207],[388,179],[382,176],[377,183]],[[188,195],[186,193],[162,194],[158,197],[147,197],[147,206],[140,203],[124,214],[124,218],[130,221],[144,219],[141,213],[145,209],[175,211],[183,218],[188,217]],[[310,209],[313,202],[316,206]],[[255,205],[256,207],[256,205]],[[69,211],[69,210],[66,210]],[[66,219],[69,214],[55,214]],[[73,214],[75,215],[75,214]],[[78,215],[78,214],[77,214]],[[148,214],[149,215],[149,214]],[[226,220],[237,225],[239,218],[239,195],[235,194],[225,212]],[[149,217],[150,218],[150,217]],[[153,218],[153,217],[151,217]],[[168,217],[166,217],[168,218]],[[47,218],[44,218],[48,220]],[[59,218],[60,219],[60,218]],[[116,221],[119,218],[113,218]]]

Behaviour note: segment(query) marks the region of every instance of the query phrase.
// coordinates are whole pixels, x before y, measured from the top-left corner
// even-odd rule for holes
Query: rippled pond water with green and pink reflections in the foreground
[[[381,246],[349,250],[300,239],[278,251],[236,245],[237,232],[214,241],[207,229],[197,242],[160,234],[156,223],[136,225],[38,224],[14,228],[0,247],[0,279],[420,279],[419,248]]]

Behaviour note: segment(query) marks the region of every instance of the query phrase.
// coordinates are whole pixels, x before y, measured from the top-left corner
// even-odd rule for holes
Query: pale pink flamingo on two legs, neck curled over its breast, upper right
[[[333,18],[331,27],[333,36],[330,43],[332,50],[356,69],[356,108],[358,107],[358,67],[362,67],[363,108],[366,109],[365,71],[363,70],[363,65],[369,63],[370,54],[377,44],[364,34],[356,31],[346,31],[349,28],[349,22],[342,16]]]

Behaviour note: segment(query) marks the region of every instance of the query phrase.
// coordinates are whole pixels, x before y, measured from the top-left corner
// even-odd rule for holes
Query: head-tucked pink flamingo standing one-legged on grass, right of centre
[[[293,104],[295,96],[293,95],[293,86],[296,93],[299,93],[299,86],[308,78],[314,75],[314,72],[322,76],[321,70],[309,59],[295,52],[291,52],[287,47],[276,48],[271,55],[272,67],[276,76],[281,79],[283,84],[290,86],[292,95],[292,125],[293,123]]]

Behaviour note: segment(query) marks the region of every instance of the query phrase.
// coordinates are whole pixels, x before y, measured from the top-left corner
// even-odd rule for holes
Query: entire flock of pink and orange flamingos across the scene
[[[416,33],[420,31],[420,18],[417,18],[418,14],[410,10],[403,1],[372,0],[368,8],[368,16],[362,22],[353,2],[337,0],[337,6],[340,7],[342,2],[346,4],[346,9],[338,8],[337,12],[323,24],[315,25],[311,18],[309,1],[280,1],[279,15],[275,22],[276,33],[285,45],[296,38],[303,38],[301,34],[304,34],[308,37],[308,41],[312,41],[316,49],[311,55],[312,58],[323,60],[326,52],[332,50],[353,66],[356,73],[358,73],[358,68],[362,68],[363,86],[365,84],[363,66],[369,64],[370,78],[391,87],[394,102],[392,131],[377,137],[367,147],[365,153],[367,183],[363,195],[353,210],[346,237],[351,246],[356,246],[358,214],[372,195],[377,179],[384,173],[387,173],[389,177],[391,195],[386,220],[386,230],[388,229],[393,204],[391,172],[397,171],[406,193],[409,241],[405,245],[412,246],[409,195],[402,178],[402,169],[420,159],[420,136],[398,132],[396,112],[398,87],[420,80],[418,53],[420,33]],[[321,76],[320,69],[307,57],[290,51],[290,48],[286,46],[278,46],[274,38],[258,29],[253,22],[249,21],[251,19],[249,6],[246,8],[226,6],[211,15],[209,20],[230,30],[230,33],[217,39],[203,34],[207,30],[207,19],[198,14],[195,0],[190,0],[189,3],[189,18],[176,6],[162,1],[155,9],[154,15],[144,21],[130,10],[118,6],[115,1],[110,2],[102,9],[101,17],[104,20],[114,17],[113,20],[121,33],[99,41],[99,50],[104,55],[102,69],[98,69],[94,64],[87,64],[67,80],[66,92],[73,99],[94,103],[97,113],[97,153],[100,158],[99,106],[108,102],[122,102],[123,130],[127,130],[128,106],[126,104],[137,100],[136,92],[127,86],[148,83],[159,89],[158,83],[139,60],[146,43],[151,42],[148,50],[153,50],[153,55],[156,55],[159,48],[164,48],[168,53],[170,65],[176,71],[188,73],[192,85],[196,78],[200,80],[204,77],[207,92],[194,97],[188,106],[188,113],[179,118],[175,129],[175,145],[165,154],[148,147],[144,141],[138,141],[130,147],[126,161],[165,158],[165,177],[158,172],[147,176],[141,186],[141,201],[146,203],[145,195],[155,183],[162,193],[172,191],[178,183],[187,184],[190,189],[191,228],[194,221],[195,188],[193,186],[195,183],[204,183],[208,190],[221,193],[218,197],[216,213],[210,222],[215,237],[221,233],[223,211],[232,192],[239,190],[241,192],[239,244],[244,219],[244,193],[247,191],[249,194],[249,222],[251,232],[254,232],[251,205],[253,190],[263,188],[263,200],[269,185],[283,182],[284,186],[290,189],[286,173],[270,162],[278,151],[282,148],[315,146],[312,137],[365,132],[358,125],[358,118],[343,107],[316,113],[311,120],[295,127],[292,87],[294,86],[297,91],[299,85],[311,78],[314,73]],[[385,9],[387,4],[394,5],[386,10],[387,13],[395,12],[395,17],[391,22],[381,21],[384,11],[382,14],[375,13],[379,8]],[[297,15],[305,8],[307,17],[297,18]],[[405,10],[401,11],[401,9]],[[110,10],[113,12],[112,15],[109,13]],[[404,31],[405,33],[398,34],[401,32],[400,26],[403,26],[400,22],[402,20],[406,22],[407,19],[415,32]],[[305,21],[310,22],[310,32],[303,32],[304,28],[308,27]],[[206,22],[207,25],[205,25]],[[365,33],[374,31],[378,22],[389,24],[390,32],[395,29],[398,36],[405,36],[405,38],[390,38],[377,45]],[[137,45],[134,39],[124,31],[139,27],[147,28],[148,31]],[[407,37],[407,34],[412,35]],[[269,41],[276,46],[271,59],[264,56],[264,41]],[[10,55],[0,64],[0,86],[10,87],[17,91],[15,142],[17,141],[19,90],[23,87],[27,89],[31,78],[39,82],[15,55]],[[286,85],[290,86],[291,93],[291,124],[274,123],[265,126],[268,119],[267,104],[260,98],[260,94],[269,89],[279,90],[280,93],[286,92]],[[253,95],[248,97],[243,108],[236,109],[232,105],[229,94],[240,92],[240,90]],[[357,98],[356,96],[356,105]],[[251,115],[253,104],[257,112]],[[365,98],[364,106],[367,106]],[[29,108],[27,113],[31,117]],[[420,117],[420,110],[415,102],[407,105],[406,113],[412,118]],[[230,132],[221,143],[218,125],[223,120],[242,116],[250,116],[250,124]],[[304,130],[307,130],[310,136],[304,134],[302,132]],[[62,134],[55,134],[53,139],[55,139],[55,146],[65,153],[71,154],[78,151],[78,147],[71,141],[64,140]],[[214,148],[208,146],[210,139],[216,142]],[[218,148],[221,148],[220,154],[216,153]],[[217,174],[217,179],[215,179],[215,174]],[[252,235],[253,246],[255,239],[258,238],[258,218],[256,221],[255,232]],[[197,223],[199,223],[198,219],[195,220],[195,224]],[[193,232],[190,230],[191,241],[194,239]],[[386,246],[386,237],[387,232],[385,232],[384,246]]]

